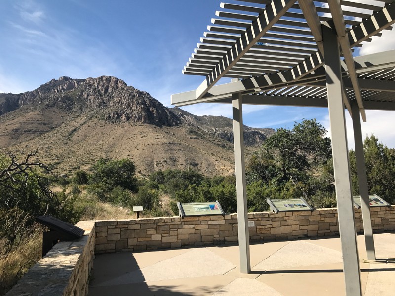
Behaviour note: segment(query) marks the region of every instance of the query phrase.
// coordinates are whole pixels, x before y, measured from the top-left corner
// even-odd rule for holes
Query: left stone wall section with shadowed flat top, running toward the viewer
[[[57,243],[5,296],[86,296],[95,257],[95,222],[76,224],[84,236]]]

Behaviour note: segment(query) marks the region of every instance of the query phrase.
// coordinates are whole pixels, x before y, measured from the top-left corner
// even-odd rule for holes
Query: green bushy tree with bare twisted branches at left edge
[[[0,235],[12,245],[29,233],[36,216],[51,214],[68,221],[67,201],[50,189],[52,170],[31,161],[37,150],[19,162],[16,155],[0,155]],[[41,171],[40,171],[41,170]]]

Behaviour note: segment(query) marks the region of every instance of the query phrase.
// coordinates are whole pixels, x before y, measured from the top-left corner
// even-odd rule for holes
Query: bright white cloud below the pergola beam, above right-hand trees
[[[380,142],[387,145],[388,148],[395,148],[395,116],[394,111],[377,111],[366,110],[366,122],[361,121],[363,140],[366,136],[375,135]],[[329,117],[326,116],[322,125],[328,130],[330,137],[331,130],[329,124]],[[346,112],[347,125],[347,141],[349,149],[354,149],[354,132],[353,121],[348,112]]]

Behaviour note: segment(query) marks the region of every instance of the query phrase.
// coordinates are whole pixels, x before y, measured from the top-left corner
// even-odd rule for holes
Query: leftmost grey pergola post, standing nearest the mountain
[[[248,234],[247,192],[244,164],[243,110],[241,93],[232,95],[233,139],[235,149],[235,175],[237,198],[238,246],[240,252],[240,272],[250,273],[250,241]]]

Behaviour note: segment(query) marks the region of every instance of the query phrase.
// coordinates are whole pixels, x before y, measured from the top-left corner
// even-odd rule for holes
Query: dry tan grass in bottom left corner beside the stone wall
[[[10,290],[16,282],[41,258],[42,231],[21,240],[6,252],[6,241],[0,240],[0,296]]]

